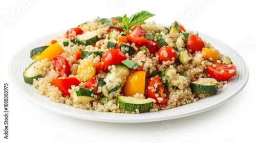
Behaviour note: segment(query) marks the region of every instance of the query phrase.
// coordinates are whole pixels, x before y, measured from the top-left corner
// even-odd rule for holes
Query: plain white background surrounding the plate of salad
[[[255,142],[255,7],[253,1],[1,1],[1,135],[4,142]],[[163,122],[121,124],[80,120],[30,103],[13,87],[8,65],[13,55],[39,37],[99,17],[128,16],[141,10],[148,21],[180,21],[230,45],[247,61],[246,87],[230,101],[206,112]],[[17,13],[16,13],[17,12]],[[16,14],[15,14],[16,13]],[[9,18],[9,19],[8,19]],[[8,19],[6,21],[6,19]],[[22,58],[22,57],[20,57]],[[3,85],[9,82],[9,139],[3,134]],[[162,130],[162,129],[165,130]],[[3,142],[0,141],[0,142]]]

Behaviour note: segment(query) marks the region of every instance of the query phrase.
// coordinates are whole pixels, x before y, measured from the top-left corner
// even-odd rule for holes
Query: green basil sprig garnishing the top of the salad
[[[122,22],[118,25],[115,25],[115,22],[111,21],[108,18],[97,18],[96,22],[103,22],[112,27],[123,29],[125,31],[125,33],[127,33],[129,31],[129,29],[132,28],[133,26],[135,26],[137,24],[141,24],[146,19],[153,17],[153,16],[155,16],[155,14],[152,14],[147,11],[140,11],[140,12],[133,14],[131,17],[127,17],[126,14],[123,16],[112,17],[112,18]]]

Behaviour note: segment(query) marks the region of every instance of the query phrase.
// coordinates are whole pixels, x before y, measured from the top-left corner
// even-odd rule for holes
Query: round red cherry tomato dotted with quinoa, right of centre
[[[177,53],[176,51],[170,46],[163,46],[157,52],[159,56],[159,61],[176,61],[177,60]]]

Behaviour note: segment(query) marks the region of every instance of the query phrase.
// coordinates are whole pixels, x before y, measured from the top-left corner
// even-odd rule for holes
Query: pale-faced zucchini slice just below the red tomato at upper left
[[[81,34],[77,37],[77,40],[79,41],[80,44],[87,46],[96,43],[99,38],[98,38],[98,33],[97,31],[88,31],[84,34]]]

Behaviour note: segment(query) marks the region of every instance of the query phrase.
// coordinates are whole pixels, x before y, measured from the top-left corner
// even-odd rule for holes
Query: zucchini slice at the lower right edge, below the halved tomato
[[[218,92],[218,83],[212,82],[211,78],[200,78],[198,81],[190,82],[189,87],[192,93],[215,94]]]

